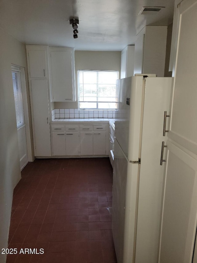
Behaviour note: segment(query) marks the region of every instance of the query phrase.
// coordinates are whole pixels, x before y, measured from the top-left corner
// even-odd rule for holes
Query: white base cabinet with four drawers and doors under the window
[[[108,124],[51,125],[53,156],[108,155]]]

